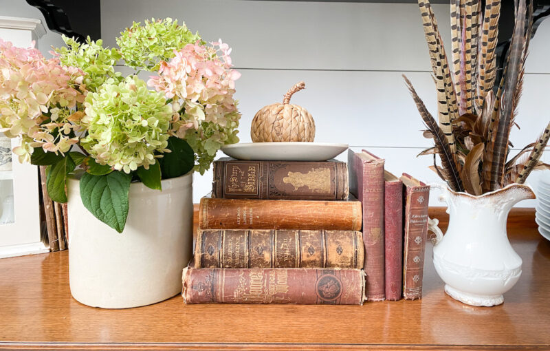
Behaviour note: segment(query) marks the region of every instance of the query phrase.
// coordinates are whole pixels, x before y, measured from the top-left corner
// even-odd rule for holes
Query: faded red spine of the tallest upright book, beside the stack
[[[384,160],[365,162],[362,177],[366,299],[382,301],[384,284]]]

